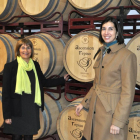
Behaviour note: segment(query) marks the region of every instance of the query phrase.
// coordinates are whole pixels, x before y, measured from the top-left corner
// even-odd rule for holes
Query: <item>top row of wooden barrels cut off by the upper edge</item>
[[[136,5],[139,4],[136,0],[132,0]],[[68,20],[68,14],[70,11],[77,9],[84,15],[97,15],[107,8],[117,7],[117,6],[129,6],[131,5],[130,0],[1,0],[0,1],[0,21],[7,22],[13,16],[18,15],[30,15],[35,20],[45,20],[50,18],[55,12],[60,12],[63,15],[63,20]],[[125,11],[127,14],[128,11]],[[102,16],[117,16],[119,15],[119,10],[109,10]],[[50,20],[57,20],[60,15],[55,15]],[[77,17],[76,14],[72,15],[72,18]],[[11,22],[28,22],[31,21],[30,18],[16,18]]]

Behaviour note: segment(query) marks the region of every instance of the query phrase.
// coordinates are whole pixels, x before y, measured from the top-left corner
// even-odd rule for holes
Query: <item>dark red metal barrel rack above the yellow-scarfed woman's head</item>
[[[53,16],[55,16],[56,14],[60,15],[59,20],[47,21],[51,19]],[[67,30],[68,23],[66,21],[63,21],[63,16],[60,12],[55,12],[48,19],[42,21],[37,21],[32,17],[30,17],[34,20],[34,22],[9,23],[14,18],[26,18],[26,17],[30,17],[30,16],[29,15],[14,16],[7,22],[0,22],[0,34],[11,35],[10,33],[17,32],[21,34],[20,38],[23,38],[25,35],[38,34],[38,33],[50,34],[49,32],[58,31],[60,32],[60,35],[58,37],[50,34],[52,37],[58,39],[61,38],[63,31]],[[39,29],[40,31],[33,32],[33,30],[37,30],[37,29]],[[19,37],[14,37],[14,36],[12,37],[15,39],[20,39]]]

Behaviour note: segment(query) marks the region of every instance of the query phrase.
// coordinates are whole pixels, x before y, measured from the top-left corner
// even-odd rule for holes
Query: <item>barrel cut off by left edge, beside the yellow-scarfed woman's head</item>
[[[17,40],[7,34],[0,34],[0,74],[3,73],[4,65],[15,59],[15,46]]]

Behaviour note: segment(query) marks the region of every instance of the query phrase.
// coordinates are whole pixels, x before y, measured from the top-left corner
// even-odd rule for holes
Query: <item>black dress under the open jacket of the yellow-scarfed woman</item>
[[[4,133],[18,135],[34,135],[40,128],[39,106],[34,103],[35,99],[35,74],[33,70],[27,71],[31,82],[31,94],[21,95],[21,117],[12,116],[12,124],[4,124]],[[16,94],[16,93],[15,93]]]

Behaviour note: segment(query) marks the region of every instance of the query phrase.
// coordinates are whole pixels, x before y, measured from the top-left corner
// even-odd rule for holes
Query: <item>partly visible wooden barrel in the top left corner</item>
[[[24,15],[21,10],[18,0],[0,0],[0,21],[7,22],[14,16]],[[10,23],[14,22],[29,22],[31,18],[15,18]]]

